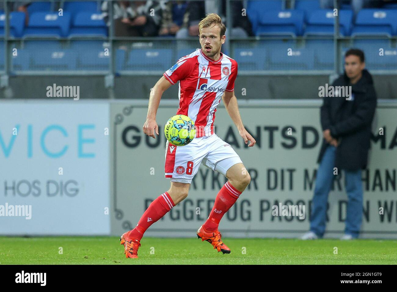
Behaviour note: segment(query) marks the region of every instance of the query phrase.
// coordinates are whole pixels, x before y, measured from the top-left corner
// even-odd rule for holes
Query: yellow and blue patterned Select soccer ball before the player
[[[167,121],[164,127],[164,134],[172,145],[185,146],[196,135],[195,122],[188,116],[177,114]]]

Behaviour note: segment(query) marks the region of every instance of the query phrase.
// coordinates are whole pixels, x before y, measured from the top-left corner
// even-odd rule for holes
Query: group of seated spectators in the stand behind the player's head
[[[108,19],[109,2],[101,9]],[[252,36],[251,24],[242,15],[243,1],[231,2],[233,27],[231,36]],[[205,1],[118,1],[113,2],[114,31],[116,36],[175,36],[185,38],[198,35],[198,23],[206,14],[216,13],[226,20],[225,0]]]

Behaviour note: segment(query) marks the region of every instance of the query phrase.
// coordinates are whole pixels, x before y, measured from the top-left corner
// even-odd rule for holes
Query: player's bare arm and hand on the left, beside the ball
[[[161,96],[172,84],[168,81],[164,75],[157,81],[153,89],[150,91],[148,114],[146,116],[146,122],[143,125],[143,133],[156,139],[154,131],[158,135],[158,125],[156,122],[156,114],[158,105],[160,104]]]

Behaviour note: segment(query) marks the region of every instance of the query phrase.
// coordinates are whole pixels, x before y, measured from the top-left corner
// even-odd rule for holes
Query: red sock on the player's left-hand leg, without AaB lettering
[[[159,195],[157,199],[150,203],[148,209],[143,213],[137,226],[128,232],[127,236],[141,240],[146,229],[154,222],[160,220],[168,211],[175,207],[174,202],[168,192]]]

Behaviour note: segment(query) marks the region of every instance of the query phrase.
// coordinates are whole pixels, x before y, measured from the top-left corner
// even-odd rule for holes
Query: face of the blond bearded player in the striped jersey
[[[220,37],[219,25],[210,24],[200,31],[200,44],[204,54],[207,57],[213,57],[221,50],[221,46],[225,43],[225,36]]]

